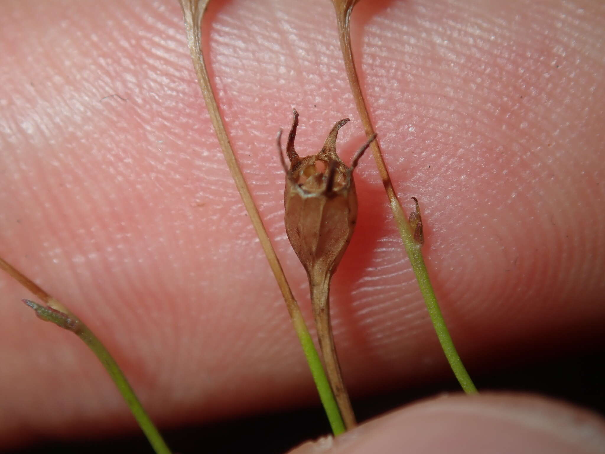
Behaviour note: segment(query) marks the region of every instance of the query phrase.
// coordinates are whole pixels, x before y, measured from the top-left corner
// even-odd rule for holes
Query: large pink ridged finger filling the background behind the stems
[[[332,5],[217,1],[209,21],[227,130],[310,323],[274,141],[292,107],[301,156],[343,117],[345,162],[365,140]],[[583,349],[605,320],[603,3],[362,2],[352,30],[471,375]],[[4,1],[0,56],[0,255],[99,335],[160,426],[316,404],[177,2]],[[350,392],[448,378],[369,155],[356,186],[358,226],[332,288]],[[0,446],[134,430],[87,347],[37,321],[6,275],[0,295]]]

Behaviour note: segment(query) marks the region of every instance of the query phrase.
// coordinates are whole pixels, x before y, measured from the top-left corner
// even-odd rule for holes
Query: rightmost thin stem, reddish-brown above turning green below
[[[359,116],[361,117],[361,121],[364,125],[365,134],[369,139],[375,134],[375,131],[370,119],[370,114],[368,113],[365,105],[361,85],[359,85],[359,77],[357,75],[355,61],[353,60],[353,52],[351,49],[350,18],[353,7],[357,1],[358,0],[332,0],[336,9],[338,34],[341,42],[342,58],[344,58],[345,68],[347,70],[348,81],[351,86],[351,91],[353,92],[353,98],[355,99]],[[431,286],[431,281],[428,278],[427,266],[424,263],[424,258],[422,257],[422,252],[420,251],[422,244],[418,242],[418,239],[414,239],[414,233],[410,230],[410,223],[405,217],[401,203],[399,203],[399,200],[397,199],[397,194],[393,188],[391,177],[388,174],[387,165],[382,158],[379,141],[374,140],[370,146],[374,160],[376,161],[376,166],[378,166],[382,184],[387,192],[387,197],[391,205],[391,211],[393,211],[393,217],[395,219],[397,229],[399,230],[401,239],[404,242],[405,251],[408,253],[408,257],[410,257],[412,269],[416,275],[418,285],[420,286],[422,297],[424,297],[424,301],[427,304],[427,309],[431,316],[431,321],[433,321],[435,331],[437,332],[439,343],[441,344],[443,352],[445,353],[445,356],[450,363],[450,367],[454,371],[460,386],[462,386],[462,389],[466,393],[476,393],[477,388],[473,384],[468,372],[466,372],[466,369],[462,364],[462,360],[456,351],[456,347],[454,346],[450,332],[445,325],[445,320],[443,320],[443,315],[439,309],[439,304],[437,303],[437,299],[435,298],[435,294],[433,292],[433,286]]]

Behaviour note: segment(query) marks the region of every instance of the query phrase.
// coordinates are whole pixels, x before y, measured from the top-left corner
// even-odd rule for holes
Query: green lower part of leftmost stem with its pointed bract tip
[[[139,423],[140,428],[143,430],[143,433],[145,433],[145,436],[149,440],[149,444],[151,444],[155,453],[171,454],[162,435],[160,435],[160,432],[155,428],[149,415],[145,412],[145,409],[143,409],[134,390],[132,390],[128,380],[126,380],[124,373],[117,365],[116,360],[114,360],[110,355],[110,352],[107,351],[105,346],[103,346],[99,338],[94,335],[90,328],[82,323],[75,315],[71,314],[71,312],[65,313],[57,311],[57,309],[42,306],[42,304],[34,303],[34,301],[30,300],[23,300],[23,302],[36,311],[36,315],[38,315],[39,318],[50,321],[59,327],[73,332],[77,337],[82,339],[91,350],[93,350],[93,353],[99,358],[99,361],[101,361],[105,370],[110,374],[111,380],[116,384],[117,389],[120,391],[120,394],[122,394],[126,404],[128,404],[132,415],[134,415],[137,423]]]

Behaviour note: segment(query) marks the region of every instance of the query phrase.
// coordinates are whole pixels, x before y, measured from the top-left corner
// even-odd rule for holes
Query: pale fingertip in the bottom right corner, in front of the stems
[[[307,442],[290,454],[597,454],[605,421],[540,396],[440,396],[397,409],[336,439]]]

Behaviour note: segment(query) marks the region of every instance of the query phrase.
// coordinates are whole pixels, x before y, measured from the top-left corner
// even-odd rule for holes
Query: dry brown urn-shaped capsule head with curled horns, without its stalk
[[[336,122],[319,153],[299,157],[294,150],[298,112],[294,110],[293,113],[287,144],[289,169],[280,145],[287,174],[284,192],[286,233],[310,282],[319,283],[336,271],[353,235],[357,220],[353,170],[374,137],[359,149],[352,165],[347,167],[336,154],[336,136],[349,121],[345,118]]]

